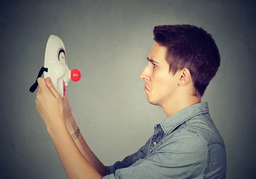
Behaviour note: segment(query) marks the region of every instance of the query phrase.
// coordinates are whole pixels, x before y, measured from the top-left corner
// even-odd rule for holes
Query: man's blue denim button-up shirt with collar
[[[201,102],[155,124],[145,145],[105,166],[102,179],[225,179],[226,165],[224,141]]]

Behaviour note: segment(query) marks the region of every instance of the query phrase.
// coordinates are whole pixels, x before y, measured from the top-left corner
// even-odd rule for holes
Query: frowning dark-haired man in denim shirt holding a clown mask
[[[143,147],[111,166],[100,162],[81,134],[74,141],[85,159],[79,160],[82,155],[73,152],[76,150],[73,146],[69,152],[77,158],[79,165],[71,157],[66,159],[62,153],[68,151],[60,147],[61,139],[62,146],[69,146],[64,145],[63,135],[66,132],[57,133],[54,132],[57,127],[49,127],[48,131],[70,178],[226,177],[224,141],[210,117],[208,103],[201,102],[201,97],[220,66],[215,41],[204,29],[191,25],[155,26],[153,33],[155,43],[147,57],[148,66],[140,78],[145,80],[144,90],[148,102],[161,106],[167,118],[154,125],[154,133]],[[64,113],[68,114],[64,115],[64,121],[73,136],[78,127],[71,115],[66,96],[63,104]],[[50,122],[47,124],[52,126]],[[60,131],[59,128],[58,130]],[[71,145],[71,141],[66,142]],[[76,172],[84,173],[74,174]]]

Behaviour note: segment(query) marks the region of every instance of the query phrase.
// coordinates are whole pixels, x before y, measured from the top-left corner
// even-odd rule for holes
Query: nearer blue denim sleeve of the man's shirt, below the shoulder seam
[[[173,134],[157,149],[129,167],[116,169],[102,179],[203,178],[208,146],[201,136],[189,131]]]

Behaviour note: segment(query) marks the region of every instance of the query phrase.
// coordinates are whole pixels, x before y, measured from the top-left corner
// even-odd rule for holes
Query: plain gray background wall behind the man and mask
[[[29,92],[51,34],[64,42],[70,70],[81,71],[67,97],[96,156],[113,165],[145,144],[166,119],[140,79],[152,30],[163,24],[200,26],[215,39],[221,66],[202,101],[226,145],[227,179],[255,178],[255,7],[237,0],[1,0],[0,178],[67,178]]]

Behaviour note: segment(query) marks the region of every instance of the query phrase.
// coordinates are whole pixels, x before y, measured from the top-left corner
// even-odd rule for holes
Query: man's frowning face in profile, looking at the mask
[[[179,79],[177,74],[172,76],[169,73],[169,64],[165,60],[166,52],[166,47],[159,46],[155,42],[147,57],[148,66],[140,74],[140,78],[145,80],[145,86],[148,89],[145,90],[148,102],[162,107],[167,101],[173,99]]]

